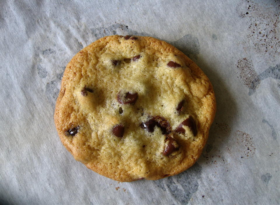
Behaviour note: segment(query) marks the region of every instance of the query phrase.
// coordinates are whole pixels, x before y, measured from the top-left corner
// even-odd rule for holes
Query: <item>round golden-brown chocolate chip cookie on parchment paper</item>
[[[152,37],[113,35],[69,62],[54,119],[76,160],[134,181],[192,166],[215,112],[209,79],[181,51]]]

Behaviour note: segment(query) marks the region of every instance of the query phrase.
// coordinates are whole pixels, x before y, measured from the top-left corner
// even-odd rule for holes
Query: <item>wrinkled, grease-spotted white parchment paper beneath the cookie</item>
[[[279,1],[0,1],[1,204],[279,204]],[[106,35],[181,49],[217,114],[189,170],[118,183],[74,160],[53,112],[65,66]]]

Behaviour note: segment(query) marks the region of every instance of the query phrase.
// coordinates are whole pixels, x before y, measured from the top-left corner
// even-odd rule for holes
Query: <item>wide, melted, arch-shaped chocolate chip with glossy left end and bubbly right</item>
[[[155,126],[158,126],[161,129],[163,135],[169,134],[171,132],[171,126],[169,122],[160,116],[155,116],[141,124],[141,127],[143,129],[147,129],[148,132],[153,132],[155,130]]]

